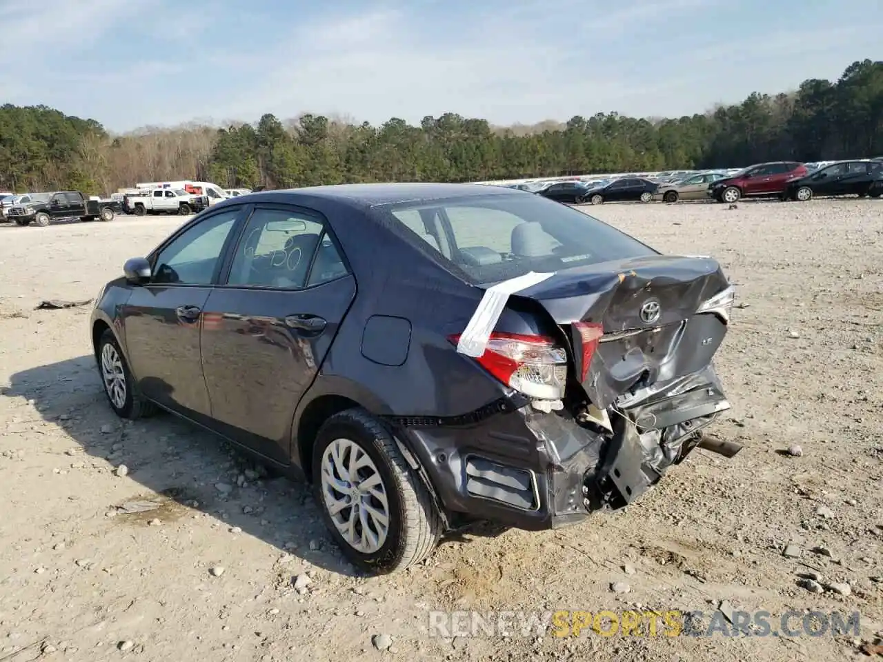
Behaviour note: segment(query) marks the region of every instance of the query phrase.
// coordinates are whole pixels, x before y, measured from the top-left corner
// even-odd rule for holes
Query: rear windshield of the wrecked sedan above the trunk
[[[389,213],[479,285],[607,260],[656,255],[587,214],[539,195],[474,196],[388,207]]]

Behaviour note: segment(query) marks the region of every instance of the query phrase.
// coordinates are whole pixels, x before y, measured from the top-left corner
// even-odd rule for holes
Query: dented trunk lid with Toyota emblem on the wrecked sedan
[[[577,380],[603,410],[709,365],[727,321],[698,309],[728,287],[716,260],[653,255],[560,271],[518,296],[562,327]]]

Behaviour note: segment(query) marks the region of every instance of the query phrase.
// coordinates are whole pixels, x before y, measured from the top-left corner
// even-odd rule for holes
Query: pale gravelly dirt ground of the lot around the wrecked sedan
[[[0,227],[0,660],[862,658],[883,635],[883,202],[591,211],[665,251],[715,256],[738,285],[718,361],[734,407],[714,431],[742,453],[695,452],[622,514],[448,541],[425,566],[367,579],[301,486],[257,477],[169,416],[122,425],[88,306],[34,310],[94,297],[179,219]],[[794,444],[802,456],[785,452]],[[160,495],[153,510],[117,508]],[[799,584],[813,572],[824,592]],[[708,621],[722,600],[772,613],[774,629],[792,609],[859,611],[861,637],[427,633],[430,609],[638,606]]]

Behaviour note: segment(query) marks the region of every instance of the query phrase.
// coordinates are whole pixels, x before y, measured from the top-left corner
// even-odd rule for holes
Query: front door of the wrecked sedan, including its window
[[[132,374],[144,395],[205,423],[211,413],[202,374],[202,309],[245,207],[226,207],[186,224],[148,260],[150,282],[132,288],[120,319]]]

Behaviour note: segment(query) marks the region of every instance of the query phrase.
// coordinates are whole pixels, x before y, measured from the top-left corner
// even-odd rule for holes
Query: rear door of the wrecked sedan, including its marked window
[[[291,422],[356,294],[318,212],[253,207],[208,296],[202,372],[218,432],[288,463]]]

